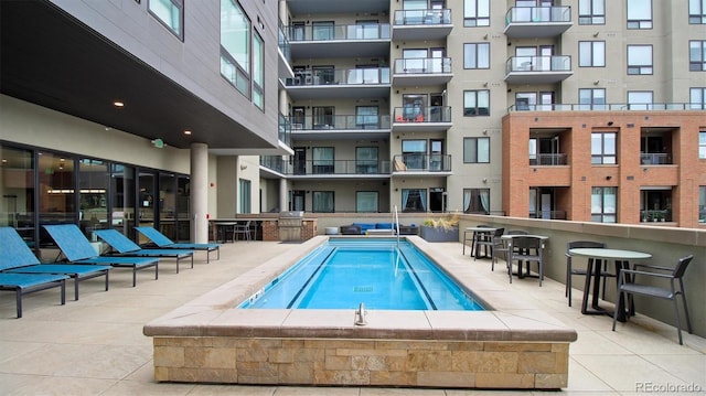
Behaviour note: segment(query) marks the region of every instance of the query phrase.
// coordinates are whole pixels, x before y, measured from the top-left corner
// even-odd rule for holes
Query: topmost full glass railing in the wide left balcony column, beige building
[[[335,24],[289,26],[291,42],[389,40],[389,24]]]

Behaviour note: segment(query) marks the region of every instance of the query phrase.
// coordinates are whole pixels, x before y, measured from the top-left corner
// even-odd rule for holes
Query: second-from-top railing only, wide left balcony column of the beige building
[[[389,68],[311,69],[296,72],[287,86],[381,85],[389,84]]]

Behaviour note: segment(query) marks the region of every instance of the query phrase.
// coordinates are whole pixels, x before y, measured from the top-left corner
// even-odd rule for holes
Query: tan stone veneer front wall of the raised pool
[[[568,342],[154,336],[154,379],[558,389]]]

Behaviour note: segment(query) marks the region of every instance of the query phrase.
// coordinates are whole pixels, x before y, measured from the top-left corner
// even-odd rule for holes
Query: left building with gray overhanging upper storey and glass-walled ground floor
[[[278,129],[278,8],[233,0],[0,1],[0,225],[135,225],[205,242],[259,212]]]

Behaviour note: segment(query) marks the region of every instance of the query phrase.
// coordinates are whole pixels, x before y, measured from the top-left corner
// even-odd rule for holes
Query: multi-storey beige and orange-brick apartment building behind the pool
[[[269,203],[706,220],[706,3],[280,2]],[[285,73],[286,72],[286,73]],[[279,186],[279,188],[277,188]]]

